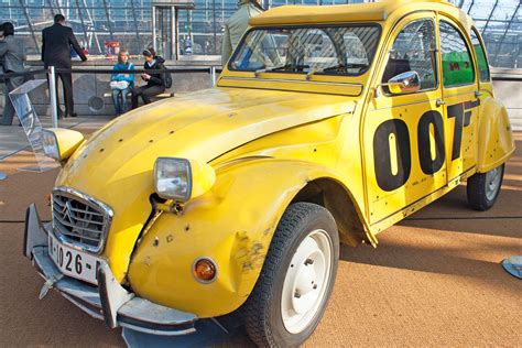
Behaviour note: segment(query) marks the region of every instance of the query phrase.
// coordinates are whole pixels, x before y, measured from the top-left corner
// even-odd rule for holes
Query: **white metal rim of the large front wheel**
[[[308,233],[295,250],[283,284],[281,315],[291,334],[303,331],[319,309],[331,276],[331,241],[325,230]]]

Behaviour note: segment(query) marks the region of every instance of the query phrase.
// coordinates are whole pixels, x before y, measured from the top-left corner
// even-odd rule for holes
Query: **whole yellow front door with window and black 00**
[[[436,17],[409,15],[389,37],[362,121],[367,215],[371,225],[387,226],[447,183]],[[418,90],[393,94],[387,84],[412,72],[420,77]]]

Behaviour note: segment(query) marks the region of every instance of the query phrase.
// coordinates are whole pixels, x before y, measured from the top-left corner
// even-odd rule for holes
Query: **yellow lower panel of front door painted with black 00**
[[[446,185],[439,96],[439,90],[396,96],[391,106],[369,110],[363,139],[370,224]],[[376,105],[384,104],[380,98]],[[406,98],[417,100],[400,102]]]

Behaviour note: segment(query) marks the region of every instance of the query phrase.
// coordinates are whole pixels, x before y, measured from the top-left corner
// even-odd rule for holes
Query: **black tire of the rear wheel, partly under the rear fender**
[[[491,175],[494,175],[493,173],[496,171],[500,176],[500,181],[496,181],[496,185],[493,185],[493,187],[491,186]],[[480,211],[490,209],[499,196],[503,176],[504,165],[502,164],[487,173],[477,173],[468,178],[467,194],[468,204],[471,206],[471,208]]]

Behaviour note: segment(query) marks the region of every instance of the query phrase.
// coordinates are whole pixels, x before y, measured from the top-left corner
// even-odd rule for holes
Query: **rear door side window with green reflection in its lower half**
[[[441,21],[439,31],[444,87],[472,84],[475,70],[466,40],[448,22]]]

